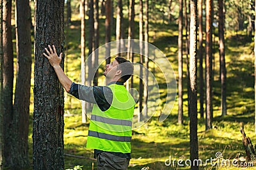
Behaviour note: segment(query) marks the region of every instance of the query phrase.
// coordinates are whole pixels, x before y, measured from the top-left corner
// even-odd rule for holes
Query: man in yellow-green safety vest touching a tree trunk
[[[54,45],[48,48],[44,56],[64,89],[78,99],[93,103],[86,147],[94,149],[98,170],[127,169],[135,103],[124,83],[133,73],[132,63],[116,57],[104,71],[107,86],[87,87],[72,82],[60,67],[62,53],[58,56]]]

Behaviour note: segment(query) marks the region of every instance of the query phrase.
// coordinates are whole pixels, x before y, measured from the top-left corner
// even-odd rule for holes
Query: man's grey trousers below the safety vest
[[[101,152],[97,155],[98,170],[126,170],[130,159],[118,157],[108,152]]]

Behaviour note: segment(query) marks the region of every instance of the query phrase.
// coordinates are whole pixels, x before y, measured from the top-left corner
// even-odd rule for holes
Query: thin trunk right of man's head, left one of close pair
[[[143,103],[143,0],[140,0],[140,85],[139,85],[139,110],[138,121],[140,122],[142,118],[142,103]]]

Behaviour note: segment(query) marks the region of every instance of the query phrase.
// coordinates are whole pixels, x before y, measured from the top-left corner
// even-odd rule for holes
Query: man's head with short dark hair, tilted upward
[[[122,57],[116,57],[113,62],[106,65],[104,75],[106,78],[116,81],[127,81],[133,73],[133,65],[129,60]]]

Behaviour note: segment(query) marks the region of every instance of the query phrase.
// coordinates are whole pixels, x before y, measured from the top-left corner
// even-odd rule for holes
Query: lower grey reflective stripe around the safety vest
[[[123,141],[123,142],[130,142],[132,140],[131,136],[115,136],[112,134],[104,134],[95,131],[89,131],[88,136],[93,136],[100,139],[108,139],[111,141]]]

